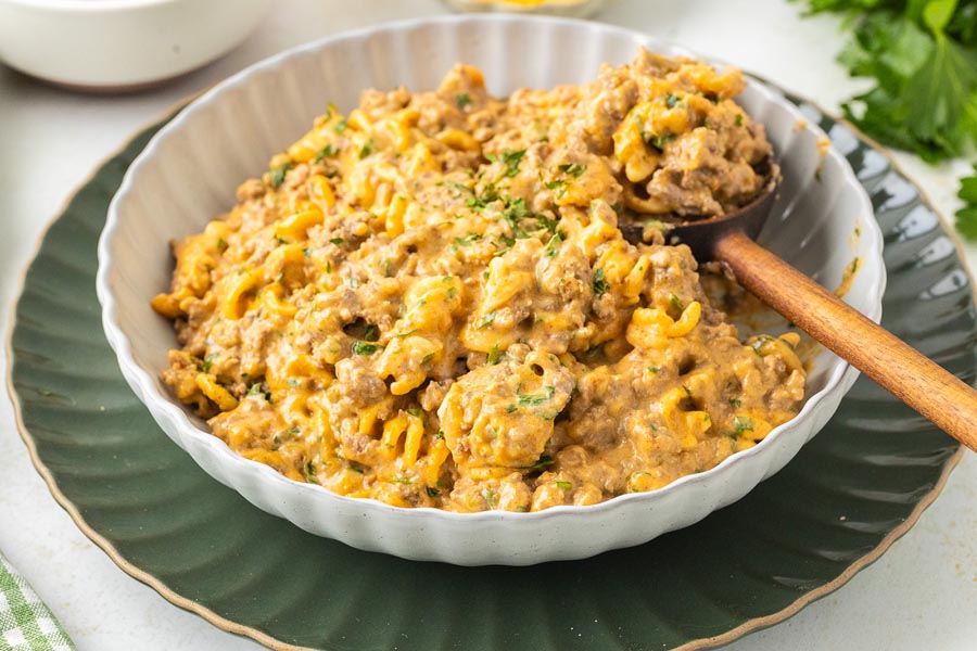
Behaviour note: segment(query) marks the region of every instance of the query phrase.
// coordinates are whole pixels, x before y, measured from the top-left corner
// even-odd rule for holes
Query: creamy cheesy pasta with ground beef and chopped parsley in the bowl
[[[655,226],[763,188],[743,87],[642,50],[582,86],[496,99],[457,65],[329,106],[174,243],[164,381],[239,455],[398,507],[593,505],[713,468],[804,398],[797,336],[743,341]]]

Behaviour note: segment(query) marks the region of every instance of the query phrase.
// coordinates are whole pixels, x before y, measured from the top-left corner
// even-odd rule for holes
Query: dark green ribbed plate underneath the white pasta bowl
[[[872,195],[885,233],[884,324],[965,381],[974,297],[918,190],[804,105]],[[16,308],[11,385],[34,462],[78,526],[136,578],[276,648],[697,649],[782,621],[904,534],[957,444],[870,381],[739,502],[647,545],[532,567],[456,567],[303,533],[204,474],[129,391],[102,334],[96,243],[110,199],[161,125],[75,195]]]

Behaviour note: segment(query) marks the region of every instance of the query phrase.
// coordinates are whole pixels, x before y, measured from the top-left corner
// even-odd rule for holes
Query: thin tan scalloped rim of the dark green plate
[[[759,79],[764,79],[764,77],[762,77],[760,75],[753,75],[752,73],[749,73],[749,74]],[[781,85],[775,85],[775,87],[779,88],[781,90],[786,90]],[[201,91],[201,93],[202,92],[206,92],[206,91],[204,90],[204,91]],[[789,92],[792,97],[817,108],[823,115],[830,117],[836,123],[841,124],[845,127],[851,129],[851,131],[858,137],[859,140],[863,141],[868,146],[871,146],[875,151],[879,152],[883,156],[885,156],[885,158],[887,159],[889,165],[891,165],[892,169],[896,173],[898,173],[900,176],[902,176],[906,180],[906,182],[909,182],[913,187],[913,189],[919,194],[919,197],[923,200],[924,204],[926,204],[932,210],[934,215],[936,215],[937,219],[940,222],[940,226],[943,228],[947,237],[950,239],[950,241],[953,243],[953,246],[956,250],[956,254],[957,254],[957,257],[960,258],[961,267],[967,273],[967,276],[973,279],[974,276],[970,272],[970,269],[967,265],[963,247],[962,247],[956,234],[954,233],[952,226],[950,224],[948,224],[947,219],[940,214],[940,212],[934,207],[932,202],[929,200],[929,196],[927,195],[927,193],[910,176],[908,176],[903,171],[902,166],[896,161],[896,158],[885,148],[883,148],[878,142],[876,142],[874,139],[870,138],[868,136],[866,136],[861,129],[855,127],[853,124],[851,124],[847,119],[835,116],[833,113],[825,111],[824,108],[821,107],[820,104],[811,101],[810,99],[808,99],[807,97],[804,97],[802,94],[799,94],[799,93],[796,93],[792,91],[787,91],[787,92]],[[112,541],[110,541],[107,538],[105,538],[102,534],[100,534],[98,531],[96,531],[88,524],[88,522],[81,515],[80,511],[74,505],[74,502],[72,502],[61,492],[61,488],[58,486],[58,483],[55,482],[53,474],[50,472],[48,467],[40,460],[40,457],[37,454],[37,446],[35,445],[34,438],[31,437],[30,433],[27,431],[27,426],[24,423],[24,418],[23,418],[23,413],[21,410],[20,396],[17,395],[16,391],[14,390],[13,334],[14,334],[14,330],[16,328],[16,315],[17,315],[16,308],[17,308],[17,305],[20,304],[21,297],[24,293],[24,288],[25,288],[25,284],[27,281],[27,275],[30,270],[30,267],[34,265],[34,263],[37,260],[38,256],[40,255],[41,246],[43,245],[45,241],[47,240],[48,232],[50,231],[51,227],[61,220],[61,218],[66,213],[68,205],[72,203],[72,201],[75,199],[75,196],[85,187],[87,187],[89,183],[91,183],[96,179],[96,177],[99,175],[99,173],[102,170],[102,168],[105,167],[106,164],[109,164],[113,158],[120,155],[129,146],[131,146],[132,142],[141,133],[143,133],[148,129],[151,129],[157,125],[162,126],[162,124],[164,124],[164,120],[172,119],[176,115],[176,113],[178,113],[183,106],[186,106],[193,99],[199,97],[201,93],[194,93],[194,94],[189,95],[188,98],[185,98],[185,99],[176,102],[175,104],[170,105],[169,108],[167,108],[166,111],[164,111],[162,113],[162,117],[158,117],[158,118],[155,118],[153,120],[145,123],[142,127],[138,128],[136,130],[136,132],[130,138],[128,138],[124,143],[122,143],[116,150],[114,150],[112,153],[107,154],[99,163],[97,163],[96,166],[92,168],[92,171],[83,181],[80,181],[77,186],[75,186],[75,188],[72,190],[72,192],[65,197],[64,202],[61,204],[61,207],[58,209],[56,217],[51,219],[47,224],[47,226],[45,226],[45,228],[41,230],[41,232],[38,234],[38,238],[34,244],[34,252],[30,255],[30,261],[21,270],[21,276],[17,280],[16,289],[14,291],[14,298],[11,302],[10,320],[8,321],[7,333],[4,336],[4,350],[7,353],[7,360],[8,360],[7,378],[5,378],[7,393],[10,396],[10,400],[13,406],[14,422],[15,422],[15,425],[17,429],[17,433],[20,434],[21,439],[24,442],[24,445],[27,447],[27,454],[30,457],[31,464],[34,465],[35,470],[37,470],[38,474],[40,474],[41,478],[45,481],[45,484],[47,484],[48,490],[51,493],[51,496],[54,498],[54,501],[56,501],[61,506],[61,508],[63,508],[67,512],[68,516],[72,519],[72,521],[78,527],[78,529],[89,540],[91,540],[99,548],[101,548],[102,551],[104,551],[109,556],[109,558],[112,560],[112,562],[115,563],[116,565],[118,565],[118,567],[123,572],[125,572],[132,578],[145,584],[147,586],[149,586],[150,588],[155,590],[161,597],[163,597],[164,599],[166,599],[174,605],[177,605],[186,611],[189,611],[191,613],[194,613],[194,614],[201,616],[202,618],[206,620],[207,622],[210,622],[217,628],[220,628],[223,630],[226,630],[228,633],[232,633],[236,635],[249,637],[261,644],[264,644],[270,649],[275,649],[276,651],[320,651],[320,650],[314,649],[312,647],[297,647],[295,644],[290,644],[288,642],[283,642],[277,638],[271,637],[270,635],[268,635],[262,630],[258,630],[257,628],[254,628],[251,626],[245,626],[243,624],[238,624],[237,622],[232,622],[231,620],[228,620],[227,617],[218,615],[216,612],[214,612],[210,608],[206,608],[206,607],[202,605],[201,603],[199,603],[192,599],[188,599],[187,597],[183,597],[182,595],[176,592],[175,590],[169,588],[166,584],[164,584],[162,580],[160,580],[158,578],[153,576],[151,573],[135,565],[134,563],[129,562],[125,557],[123,557],[122,553],[119,553],[119,551],[112,544]],[[973,297],[973,299],[974,299],[975,305],[977,305],[977,295],[975,295]],[[673,651],[698,651],[700,649],[709,649],[709,648],[719,647],[722,644],[727,644],[727,643],[729,643],[734,640],[737,640],[750,633],[761,630],[763,628],[769,628],[771,626],[779,624],[781,622],[794,616],[795,614],[797,614],[798,612],[803,610],[807,605],[811,604],[812,602],[821,599],[822,597],[826,597],[827,595],[834,592],[835,590],[837,590],[838,588],[840,588],[841,586],[847,584],[849,580],[851,580],[851,578],[855,574],[858,574],[859,572],[861,572],[862,570],[864,570],[865,567],[867,567],[868,565],[871,565],[872,563],[877,561],[886,551],[888,551],[889,547],[891,547],[892,544],[896,542],[896,540],[898,540],[899,538],[904,536],[916,524],[916,522],[918,522],[919,518],[923,515],[923,512],[927,508],[929,508],[929,506],[936,500],[936,498],[939,497],[940,493],[942,493],[943,487],[947,485],[947,481],[950,478],[950,474],[956,468],[957,463],[960,463],[960,460],[963,458],[963,455],[965,451],[966,451],[966,448],[964,446],[962,446],[962,445],[959,446],[957,450],[951,457],[949,457],[947,459],[947,461],[943,465],[943,470],[940,473],[939,480],[934,484],[932,489],[923,499],[919,500],[919,502],[916,505],[916,507],[913,509],[913,511],[909,514],[909,516],[905,519],[905,521],[901,525],[897,526],[891,532],[889,532],[889,534],[886,535],[886,537],[883,538],[881,541],[875,548],[872,549],[872,551],[870,551],[865,556],[859,558],[858,560],[853,561],[845,570],[845,572],[842,572],[840,575],[838,575],[834,580],[828,582],[819,588],[815,588],[809,592],[803,593],[797,600],[791,602],[790,605],[788,605],[775,613],[772,613],[770,615],[765,615],[762,617],[753,617],[751,620],[747,620],[739,626],[732,628],[722,635],[686,642],[685,644],[682,644],[681,647],[675,647],[673,649]]]

